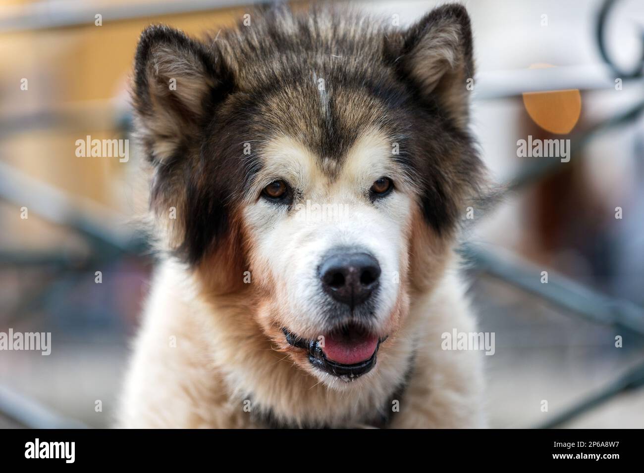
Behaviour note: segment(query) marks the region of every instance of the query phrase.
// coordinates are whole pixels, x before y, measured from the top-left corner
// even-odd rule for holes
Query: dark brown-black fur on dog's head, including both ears
[[[193,266],[218,252],[243,253],[234,209],[270,136],[294,136],[336,160],[333,179],[346,150],[373,126],[399,144],[395,159],[414,183],[426,223],[452,234],[482,171],[467,129],[472,76],[469,18],[460,5],[441,6],[408,30],[284,6],[206,42],[150,26],[136,53],[134,103],[167,249]],[[165,221],[169,207],[176,221]]]

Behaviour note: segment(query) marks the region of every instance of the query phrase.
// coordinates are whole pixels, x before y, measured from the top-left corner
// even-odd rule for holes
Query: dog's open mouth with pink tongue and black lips
[[[320,340],[303,339],[286,328],[282,331],[290,345],[308,351],[313,366],[345,381],[353,381],[375,366],[375,355],[386,339],[356,324],[331,331]]]

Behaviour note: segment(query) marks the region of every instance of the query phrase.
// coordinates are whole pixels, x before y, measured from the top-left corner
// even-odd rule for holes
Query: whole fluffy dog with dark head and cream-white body
[[[485,169],[468,14],[245,15],[135,54],[160,254],[120,427],[484,427],[455,248]]]

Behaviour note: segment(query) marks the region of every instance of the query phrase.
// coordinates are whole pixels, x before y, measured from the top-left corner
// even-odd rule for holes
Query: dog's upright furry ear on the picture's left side
[[[232,88],[217,50],[168,26],[149,26],[135,56],[134,105],[149,160],[170,160],[198,139],[207,113]]]

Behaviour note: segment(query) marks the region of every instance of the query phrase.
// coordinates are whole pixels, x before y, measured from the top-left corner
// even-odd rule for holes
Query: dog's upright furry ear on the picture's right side
[[[431,10],[385,45],[394,67],[426,100],[435,100],[457,125],[469,119],[468,79],[473,79],[472,33],[462,5],[443,5]]]

